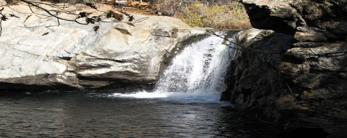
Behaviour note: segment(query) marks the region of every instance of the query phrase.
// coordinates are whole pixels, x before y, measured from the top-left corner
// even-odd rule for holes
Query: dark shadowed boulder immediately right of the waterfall
[[[245,30],[236,37],[240,46],[267,52],[283,52],[290,48],[292,36],[273,30]],[[284,55],[264,52],[244,52],[236,50],[231,63],[223,100],[230,100],[239,108],[272,106],[285,88],[285,78],[281,75],[280,65]],[[230,95],[230,97],[224,97]],[[267,112],[272,115],[272,112]]]

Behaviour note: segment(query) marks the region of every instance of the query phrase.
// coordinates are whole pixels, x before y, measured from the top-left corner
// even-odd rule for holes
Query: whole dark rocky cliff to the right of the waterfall
[[[242,32],[239,43],[273,54],[238,51],[222,99],[242,108],[261,107],[265,115],[275,119],[282,116],[317,126],[346,122],[347,2],[242,3],[252,26],[263,30]],[[335,134],[330,137],[345,135]]]

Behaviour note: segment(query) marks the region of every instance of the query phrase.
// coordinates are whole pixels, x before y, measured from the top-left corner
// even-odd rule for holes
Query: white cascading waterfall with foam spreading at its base
[[[239,31],[217,32],[220,36],[234,35]],[[218,100],[220,92],[225,90],[224,75],[233,59],[234,45],[215,35],[197,41],[179,52],[172,63],[163,72],[153,92],[136,92],[132,94],[116,93],[116,97],[184,97],[201,98],[214,95]],[[205,97],[206,98],[206,97]]]

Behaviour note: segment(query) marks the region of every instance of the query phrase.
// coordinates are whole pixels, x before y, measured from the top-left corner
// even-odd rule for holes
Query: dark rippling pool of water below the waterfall
[[[200,98],[114,91],[0,95],[0,137],[278,137],[263,133],[274,127],[243,117],[229,103]]]

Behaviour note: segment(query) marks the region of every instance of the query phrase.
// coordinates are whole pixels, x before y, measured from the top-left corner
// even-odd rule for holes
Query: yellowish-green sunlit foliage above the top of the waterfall
[[[204,28],[240,30],[251,28],[246,10],[238,1],[222,5],[195,1],[195,3],[181,8],[177,13],[177,18],[190,26]]]

